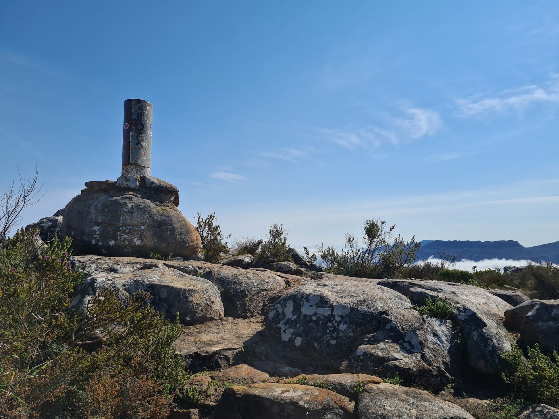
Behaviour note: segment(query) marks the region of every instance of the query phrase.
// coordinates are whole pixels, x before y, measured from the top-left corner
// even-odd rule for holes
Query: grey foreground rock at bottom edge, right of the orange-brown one
[[[461,407],[415,388],[369,384],[357,402],[359,419],[474,419]]]

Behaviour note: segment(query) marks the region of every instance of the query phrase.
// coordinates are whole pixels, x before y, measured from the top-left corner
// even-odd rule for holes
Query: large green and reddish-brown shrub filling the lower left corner
[[[186,378],[172,343],[182,333],[139,292],[108,289],[72,306],[84,281],[70,239],[30,256],[18,232],[0,250],[0,406],[7,417],[167,417]]]

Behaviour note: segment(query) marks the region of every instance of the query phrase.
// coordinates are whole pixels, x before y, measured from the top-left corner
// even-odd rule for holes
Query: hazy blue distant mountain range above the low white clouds
[[[456,256],[458,260],[480,261],[484,259],[529,259],[559,263],[559,241],[533,247],[524,247],[518,241],[469,241],[469,240],[422,240],[419,260],[438,258],[438,252]]]

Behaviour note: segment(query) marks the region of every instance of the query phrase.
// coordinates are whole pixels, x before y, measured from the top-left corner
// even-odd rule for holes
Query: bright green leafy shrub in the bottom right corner
[[[528,347],[526,358],[518,346],[503,355],[512,366],[512,372],[503,373],[506,383],[514,394],[532,403],[544,403],[559,407],[559,356],[553,353],[553,360],[543,355],[536,344]]]

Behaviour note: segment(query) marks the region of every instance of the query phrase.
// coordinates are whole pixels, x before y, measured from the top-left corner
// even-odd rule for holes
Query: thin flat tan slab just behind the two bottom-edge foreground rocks
[[[367,374],[301,374],[278,381],[280,384],[292,382],[306,382],[308,385],[326,388],[353,400],[357,400],[359,397],[356,390],[358,385],[383,383],[382,379]]]

